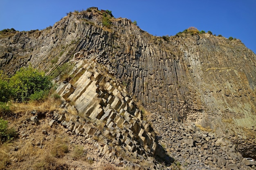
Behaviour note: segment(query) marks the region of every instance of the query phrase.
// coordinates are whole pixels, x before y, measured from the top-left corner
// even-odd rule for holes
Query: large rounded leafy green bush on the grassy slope
[[[28,99],[42,99],[43,94],[46,95],[46,92],[52,87],[52,82],[43,71],[29,66],[16,72],[10,78],[9,86],[13,100],[25,102]]]

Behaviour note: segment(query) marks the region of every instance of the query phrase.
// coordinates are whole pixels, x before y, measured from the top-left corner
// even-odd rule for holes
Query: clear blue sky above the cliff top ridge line
[[[194,26],[240,39],[256,53],[256,0],[1,0],[0,30],[45,29],[69,11],[88,7],[136,20],[152,35],[175,35]]]

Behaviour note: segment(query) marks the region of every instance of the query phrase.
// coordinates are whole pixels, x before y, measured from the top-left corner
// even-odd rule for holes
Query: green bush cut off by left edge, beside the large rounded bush
[[[0,71],[0,102],[7,102],[11,96],[9,87],[9,78],[2,71]]]

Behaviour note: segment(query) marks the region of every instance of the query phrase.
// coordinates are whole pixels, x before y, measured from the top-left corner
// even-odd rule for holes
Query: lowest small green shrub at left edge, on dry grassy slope
[[[13,128],[8,128],[8,121],[0,117],[0,143],[11,141],[16,137],[16,132]]]

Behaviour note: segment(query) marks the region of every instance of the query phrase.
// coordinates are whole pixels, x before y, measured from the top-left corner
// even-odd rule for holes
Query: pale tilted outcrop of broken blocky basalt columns
[[[102,152],[107,156],[112,155],[108,158],[111,161],[117,160],[117,154],[112,153],[110,146],[119,146],[126,154],[130,153],[135,158],[155,157],[159,161],[171,163],[171,157],[159,146],[153,129],[143,121],[141,110],[125,88],[121,87],[123,85],[107,73],[98,72],[100,66],[87,59],[76,62],[74,67],[77,69],[70,73],[74,78],[60,83],[56,89],[63,97],[64,108],[73,110],[76,114],[54,113],[53,121],[58,121],[76,135],[103,141],[106,139]]]

